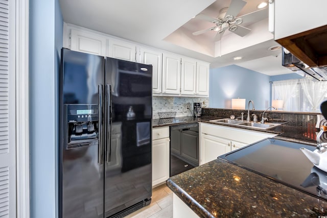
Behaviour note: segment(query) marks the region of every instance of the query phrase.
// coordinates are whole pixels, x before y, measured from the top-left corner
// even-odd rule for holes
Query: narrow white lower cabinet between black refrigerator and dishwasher
[[[169,127],[152,130],[152,187],[169,178]]]

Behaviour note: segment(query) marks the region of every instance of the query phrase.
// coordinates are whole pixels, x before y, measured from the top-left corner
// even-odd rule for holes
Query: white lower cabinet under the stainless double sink
[[[276,134],[200,123],[200,164]]]

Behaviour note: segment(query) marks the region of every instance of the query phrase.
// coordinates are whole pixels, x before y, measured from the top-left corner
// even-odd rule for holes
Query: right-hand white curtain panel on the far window
[[[306,99],[312,107],[312,111],[320,109],[320,104],[324,100],[327,92],[327,82],[312,81],[310,79],[300,79],[300,83],[305,93]]]

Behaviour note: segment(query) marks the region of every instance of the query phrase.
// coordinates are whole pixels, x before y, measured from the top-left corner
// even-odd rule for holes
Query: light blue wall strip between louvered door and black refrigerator
[[[30,217],[57,217],[57,87],[63,19],[58,0],[30,1],[29,12]]]

